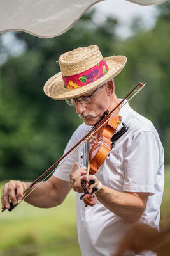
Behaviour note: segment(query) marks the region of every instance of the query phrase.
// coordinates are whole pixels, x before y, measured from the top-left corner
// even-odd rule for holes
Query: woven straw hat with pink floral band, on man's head
[[[44,92],[55,100],[80,97],[117,76],[126,61],[125,56],[103,58],[97,45],[66,52],[59,57],[61,72],[48,79]]]

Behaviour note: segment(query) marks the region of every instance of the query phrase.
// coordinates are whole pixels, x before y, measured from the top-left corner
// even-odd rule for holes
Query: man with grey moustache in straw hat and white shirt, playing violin
[[[113,77],[125,66],[125,56],[103,58],[97,45],[78,48],[59,58],[61,72],[51,77],[44,91],[55,100],[69,100],[84,123],[73,133],[65,152],[72,148],[106,111],[117,106]],[[164,187],[164,150],[152,122],[129,104],[115,109],[127,125],[95,175],[82,166],[83,148],[71,154],[46,182],[39,184],[25,201],[36,207],[60,205],[73,188],[77,192],[78,241],[82,255],[111,256],[125,231],[137,221],[159,228]],[[97,204],[85,207],[81,181],[94,180]],[[9,200],[17,204],[28,184],[11,180],[2,191],[3,209]],[[129,254],[134,255],[134,254]],[[153,255],[146,252],[143,255]]]

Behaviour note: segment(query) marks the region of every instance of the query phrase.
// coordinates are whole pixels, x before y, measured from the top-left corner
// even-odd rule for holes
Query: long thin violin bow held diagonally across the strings
[[[97,125],[95,125],[89,132],[87,132],[87,134],[85,134],[85,136],[83,136],[83,138],[81,138],[80,141],[78,141],[74,146],[73,148],[71,148],[70,150],[68,150],[66,152],[66,154],[64,154],[62,157],[60,157],[60,159],[58,159],[55,163],[52,164],[52,166],[50,166],[44,173],[42,173],[36,180],[34,180],[34,182],[32,182],[29,187],[27,189],[25,189],[24,191],[24,195],[25,193],[27,193],[27,191],[29,191],[32,186],[34,186],[39,180],[41,180],[43,177],[45,177],[43,180],[41,180],[41,182],[45,181],[53,172],[55,172],[56,168],[55,166],[58,165],[58,167],[64,163],[64,161],[66,161],[66,159],[71,156],[71,154],[73,154],[73,152],[75,152],[86,140],[89,140],[89,138],[92,137],[92,134],[94,134],[94,132],[96,132],[98,129],[101,128],[101,126],[103,124],[105,124],[108,119],[110,118],[110,115],[115,111],[115,109],[117,109],[119,106],[121,106],[121,104],[127,99],[127,97],[129,97],[129,95],[131,95],[133,92],[135,92],[136,88],[138,88],[139,86],[139,89],[136,91],[136,93],[134,93],[134,95],[132,95],[132,97],[129,99],[131,100],[137,93],[139,93],[145,86],[145,83],[141,83],[139,82],[138,84],[136,84],[136,86],[134,86],[134,88],[131,90],[131,92],[129,92],[125,97],[124,99],[122,99],[118,104],[117,106],[115,106],[115,108],[113,108],[109,113],[108,115],[106,115],[103,120],[101,120]],[[129,102],[129,100],[127,102]],[[125,102],[122,107],[127,103]],[[121,108],[122,108],[121,107]],[[53,168],[55,168],[54,170],[52,170]],[[25,195],[22,200],[20,200],[20,202],[18,202],[17,205],[19,205],[22,201],[24,201],[24,199],[29,196],[33,191],[34,189],[38,188],[39,184],[41,184],[41,182],[39,182],[29,193],[27,193],[27,195]],[[14,205],[12,202],[10,202],[10,209],[8,209],[8,211],[12,211],[17,205]],[[6,209],[2,209],[2,212],[4,212]]]

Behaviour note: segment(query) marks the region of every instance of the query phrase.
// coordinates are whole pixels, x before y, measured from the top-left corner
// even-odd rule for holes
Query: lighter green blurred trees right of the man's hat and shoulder
[[[170,67],[170,3],[160,4],[159,17],[151,31],[141,31],[135,36],[120,42],[117,53],[127,56],[127,66],[120,77],[116,77],[117,92],[127,84],[136,81],[146,83],[146,88],[132,100],[131,106],[152,120],[159,131],[165,149],[166,163],[170,163],[170,105],[169,105],[169,67]],[[136,19],[135,19],[136,20]],[[136,29],[136,27],[135,27]]]

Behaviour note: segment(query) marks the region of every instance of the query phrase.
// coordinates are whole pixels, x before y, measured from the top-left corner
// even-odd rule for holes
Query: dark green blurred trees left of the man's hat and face
[[[43,84],[59,72],[60,54],[76,47],[99,44],[110,54],[115,19],[97,25],[88,12],[57,38],[41,39],[16,33],[27,51],[1,66],[0,179],[35,179],[62,155],[81,124],[75,109],[43,93]],[[110,39],[110,40],[108,40]]]

